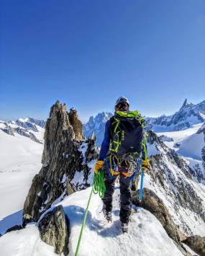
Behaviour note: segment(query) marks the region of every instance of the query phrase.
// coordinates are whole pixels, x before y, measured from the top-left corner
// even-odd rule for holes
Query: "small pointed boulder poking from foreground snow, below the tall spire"
[[[69,221],[63,206],[57,206],[43,216],[39,223],[40,237],[46,244],[54,247],[55,253],[68,255]]]

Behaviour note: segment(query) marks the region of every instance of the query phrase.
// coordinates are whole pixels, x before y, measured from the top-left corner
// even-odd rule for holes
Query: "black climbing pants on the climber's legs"
[[[118,176],[118,175],[117,175]],[[109,179],[107,175],[105,175],[105,185],[106,191],[104,198],[102,198],[104,202],[104,208],[106,211],[112,210],[112,195],[114,193],[114,181],[116,180],[114,177],[112,180]],[[119,190],[120,190],[120,212],[119,219],[123,223],[129,222],[129,216],[131,214],[131,193],[130,193],[130,185],[131,180],[129,177],[125,177],[122,173],[119,174]]]

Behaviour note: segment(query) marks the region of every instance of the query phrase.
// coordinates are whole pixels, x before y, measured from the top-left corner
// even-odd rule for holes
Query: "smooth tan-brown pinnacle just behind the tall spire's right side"
[[[81,120],[78,118],[78,114],[75,108],[70,108],[70,112],[68,113],[68,118],[70,121],[70,125],[73,127],[73,132],[75,133],[76,141],[82,141],[83,136],[83,124]]]

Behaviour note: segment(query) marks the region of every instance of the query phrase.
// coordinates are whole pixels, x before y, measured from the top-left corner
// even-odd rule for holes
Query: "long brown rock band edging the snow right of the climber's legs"
[[[178,226],[174,224],[168,209],[165,207],[163,200],[161,200],[152,190],[148,190],[144,188],[144,197],[142,202],[139,201],[139,190],[132,193],[132,203],[135,206],[140,206],[145,208],[145,210],[150,211],[163,225],[163,228],[168,233],[168,236],[173,239],[176,243],[177,247],[183,252],[184,255],[187,255],[186,249],[181,244],[180,239],[180,231],[178,230]]]

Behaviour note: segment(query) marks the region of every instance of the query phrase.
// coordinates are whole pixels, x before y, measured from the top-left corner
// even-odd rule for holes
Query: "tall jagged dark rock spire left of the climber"
[[[76,120],[74,123],[79,122]],[[79,134],[82,134],[82,131],[78,131],[78,138]],[[86,144],[85,155],[89,155],[89,159],[84,159],[82,144]],[[86,183],[91,171],[88,162],[95,158],[94,140],[76,140],[65,104],[56,102],[51,107],[50,118],[47,119],[45,126],[42,169],[32,180],[32,186],[24,202],[23,214],[37,221],[56,199],[63,200],[66,195],[76,191],[71,182],[75,173],[83,170]]]

